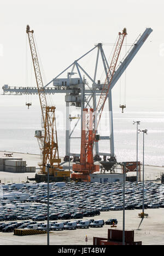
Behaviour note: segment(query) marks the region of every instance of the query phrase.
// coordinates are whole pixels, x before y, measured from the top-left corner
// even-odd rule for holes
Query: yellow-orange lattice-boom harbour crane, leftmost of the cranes
[[[35,135],[38,140],[39,148],[43,155],[43,161],[38,165],[40,166],[41,173],[46,174],[46,165],[49,164],[50,175],[59,177],[60,175],[58,175],[58,172],[62,167],[60,166],[61,159],[58,156],[55,106],[48,106],[45,97],[43,80],[40,72],[33,32],[33,30],[30,30],[30,26],[27,25],[26,33],[28,34],[28,40],[30,43],[31,56],[37,82],[40,107],[42,110],[42,131],[36,131]],[[70,173],[65,172],[65,174],[66,176],[68,176]],[[65,174],[63,174],[62,172],[63,177],[65,177]]]

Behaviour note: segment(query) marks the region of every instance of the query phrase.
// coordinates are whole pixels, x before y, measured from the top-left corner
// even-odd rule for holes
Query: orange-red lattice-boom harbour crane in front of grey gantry
[[[124,28],[122,33],[119,32],[118,42],[116,43],[112,61],[108,69],[106,81],[103,85],[95,113],[93,114],[92,108],[83,109],[83,129],[81,132],[80,164],[73,165],[74,173],[72,173],[72,179],[80,179],[81,181],[90,182],[90,174],[99,171],[99,165],[94,165],[93,163],[93,143],[98,141],[99,139],[99,136],[96,134],[96,132],[103,113],[104,105],[108,97],[110,84],[112,83],[122,44],[126,35],[126,28]],[[97,122],[95,122],[95,116]]]

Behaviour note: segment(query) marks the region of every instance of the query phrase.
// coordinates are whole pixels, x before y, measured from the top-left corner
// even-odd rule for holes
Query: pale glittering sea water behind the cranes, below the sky
[[[72,113],[73,115],[79,112]],[[38,107],[2,107],[0,109],[0,150],[10,152],[40,154],[34,132],[40,130],[41,112]],[[71,130],[77,119],[72,120]],[[113,111],[114,151],[118,161],[136,161],[137,125],[138,129],[148,129],[144,135],[144,163],[148,165],[164,165],[164,112],[140,112],[121,110]],[[58,149],[60,156],[65,156],[65,109],[56,111]],[[98,133],[110,136],[109,113],[104,112]],[[80,121],[71,135],[71,152],[80,153]],[[109,153],[108,140],[99,142],[99,152]],[[143,133],[138,134],[138,160],[143,161]]]

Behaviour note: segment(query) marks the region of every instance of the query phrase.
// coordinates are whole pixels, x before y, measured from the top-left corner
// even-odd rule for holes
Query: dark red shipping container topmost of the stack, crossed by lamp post
[[[122,242],[123,231],[119,229],[108,229],[108,240]],[[134,242],[134,230],[125,230],[125,242]]]

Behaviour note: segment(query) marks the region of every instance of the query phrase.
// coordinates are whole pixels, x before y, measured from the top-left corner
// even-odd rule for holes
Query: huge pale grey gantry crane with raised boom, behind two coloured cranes
[[[131,45],[131,48],[128,49],[126,55],[122,58],[120,63],[118,63],[118,66],[115,69],[112,83],[110,84],[109,94],[108,94],[108,102],[109,102],[109,136],[102,136],[100,139],[106,139],[109,140],[110,143],[110,152],[108,150],[108,147],[106,148],[106,153],[99,151],[98,142],[95,143],[95,156],[103,156],[105,159],[107,156],[110,156],[110,158],[115,157],[114,153],[114,129],[113,129],[113,107],[112,107],[112,89],[122,76],[122,74],[126,71],[126,68],[130,65],[131,61],[134,59],[134,57],[137,55],[138,51],[142,48],[145,42],[148,41],[150,34],[153,32],[153,30],[149,28],[145,28],[145,31],[142,34],[139,34],[137,39],[134,41],[134,43]],[[93,70],[94,75],[91,76],[89,73],[82,67],[79,63],[80,60],[84,59],[85,56],[88,56],[91,52],[95,51],[97,49],[97,57],[96,61],[92,62],[93,64]],[[69,160],[69,155],[73,156],[75,160],[79,158],[80,154],[78,152],[69,152],[69,139],[70,135],[72,135],[73,131],[75,130],[75,127],[77,126],[77,122],[75,122],[75,125],[72,129],[72,132],[69,131],[69,111],[72,106],[77,106],[79,102],[81,102],[81,117],[83,116],[83,109],[89,108],[96,110],[96,97],[99,95],[99,92],[101,92],[103,84],[101,83],[101,80],[97,80],[97,70],[98,70],[98,63],[102,60],[104,72],[106,73],[109,69],[107,57],[104,54],[104,50],[101,43],[98,43],[94,48],[87,51],[84,55],[80,56],[78,59],[76,59],[74,62],[71,63],[67,68],[65,68],[62,72],[57,74],[55,78],[51,79],[48,84],[44,86],[45,94],[65,94],[65,103],[66,103],[66,154],[65,158],[67,161]],[[78,78],[68,79],[68,74],[71,75],[75,73],[75,69],[77,69],[78,72]],[[60,78],[61,75],[63,75],[65,72],[67,72],[67,78]],[[68,73],[69,72],[69,73]],[[87,79],[89,79],[89,83],[92,84],[92,87],[85,86],[83,83],[83,73],[85,73]],[[81,79],[81,80],[80,80]],[[100,79],[100,78],[98,78]],[[79,81],[81,83],[79,84]],[[99,84],[100,82],[100,84]],[[64,84],[64,85],[63,85]],[[49,87],[50,86],[50,87]],[[38,89],[36,87],[33,87],[31,84],[31,87],[25,87],[22,86],[9,86],[8,84],[5,84],[3,87],[3,94],[4,95],[33,95],[38,94]],[[82,100],[81,100],[82,99]],[[84,99],[86,101],[84,102]],[[91,100],[93,99],[93,104],[91,105]],[[122,102],[125,104],[125,102]],[[125,105],[122,105],[120,102],[121,108],[125,107]],[[123,108],[124,109],[124,108]],[[122,109],[122,110],[123,110]],[[82,122],[83,119],[81,119],[81,130],[82,130]],[[103,135],[103,134],[102,134]],[[74,138],[79,139],[79,137],[74,136]],[[112,160],[113,161],[113,160]],[[63,164],[63,163],[62,163]],[[61,165],[62,165],[61,164]],[[109,166],[108,166],[109,167]]]

